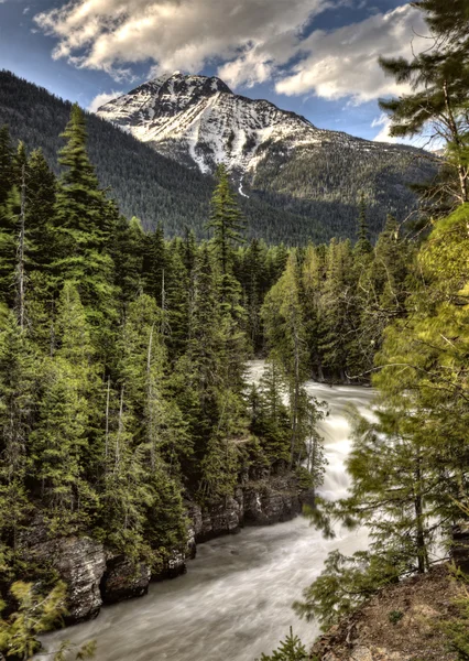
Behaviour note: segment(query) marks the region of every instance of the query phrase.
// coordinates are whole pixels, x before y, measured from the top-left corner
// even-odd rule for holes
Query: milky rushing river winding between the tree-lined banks
[[[253,361],[251,378],[257,380],[261,370],[262,361]],[[338,498],[348,484],[346,407],[353,403],[366,412],[372,391],[313,381],[307,390],[329,404],[330,414],[320,424],[329,460],[321,495]],[[320,573],[329,551],[351,554],[366,546],[363,530],[338,530],[327,541],[302,517],[248,528],[200,544],[186,575],[152,584],[146,596],[106,607],[94,621],[52,633],[44,646],[52,651],[65,639],[96,639],[97,661],[253,661],[270,653],[290,626],[310,643],[317,627],[298,619],[292,603]]]

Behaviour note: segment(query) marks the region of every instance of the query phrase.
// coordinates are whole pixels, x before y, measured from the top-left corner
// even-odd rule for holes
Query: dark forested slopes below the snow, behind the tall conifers
[[[8,124],[12,138],[23,140],[29,149],[42,148],[55,172],[63,144],[59,133],[70,107],[46,89],[0,72],[0,124]],[[129,218],[138,216],[146,229],[163,225],[168,237],[181,236],[186,227],[198,238],[207,237],[214,180],[200,173],[177,140],[170,141],[166,155],[162,155],[151,143],[142,143],[92,113],[87,115],[87,126],[91,161],[122,213]],[[403,220],[415,208],[415,196],[406,183],[422,181],[434,171],[404,149],[391,148],[384,156],[379,149],[360,149],[358,158],[358,150],[323,142],[313,150],[297,145],[293,152],[284,142],[265,143],[262,149],[268,158],[261,158],[254,171],[238,175],[248,238],[286,245],[323,242],[334,236],[353,239],[361,193],[374,238],[388,213]],[[361,139],[355,144],[367,147]],[[182,160],[176,158],[177,150]],[[258,155],[263,156],[261,151]]]

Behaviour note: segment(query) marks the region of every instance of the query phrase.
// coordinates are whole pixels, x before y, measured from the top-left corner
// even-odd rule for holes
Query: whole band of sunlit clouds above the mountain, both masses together
[[[0,0],[1,2],[1,0]],[[332,31],[314,30],[326,8],[350,0],[69,0],[35,17],[57,39],[55,58],[130,78],[131,65],[151,62],[151,73],[201,71],[221,62],[228,85],[275,80],[276,91],[316,94],[361,104],[401,94],[378,65],[424,47],[422,12],[403,4]],[[308,29],[309,26],[309,29]]]

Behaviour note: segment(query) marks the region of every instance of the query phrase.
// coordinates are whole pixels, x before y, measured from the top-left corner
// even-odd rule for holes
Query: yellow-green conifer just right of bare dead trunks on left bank
[[[156,552],[153,562],[162,561],[163,550],[168,553],[185,542],[178,479],[181,464],[192,452],[181,411],[167,397],[166,355],[157,329],[160,315],[154,300],[146,295],[129,305],[121,343],[119,424],[114,432],[116,443],[119,441],[122,448],[114,468],[122,481],[122,494],[117,496],[119,507],[128,512],[128,528],[133,529],[133,534],[142,531]],[[126,440],[124,431],[131,434],[131,441]],[[132,480],[137,483],[134,487]],[[132,488],[146,492],[137,507],[132,505]]]

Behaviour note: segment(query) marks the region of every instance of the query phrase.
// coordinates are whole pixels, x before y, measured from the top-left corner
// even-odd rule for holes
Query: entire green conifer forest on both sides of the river
[[[467,524],[469,17],[465,0],[417,6],[435,45],[410,63],[382,61],[397,80],[415,82],[412,95],[382,106],[395,136],[436,127],[446,155],[421,189],[419,223],[411,231],[389,216],[374,243],[366,195],[353,242],[246,242],[223,166],[206,239],[190,224],[165,238],[162,226],[126,218],[100,185],[78,106],[57,173],[40,149],[0,129],[8,659],[30,659],[65,608],[66,586],[22,554],[33,520],[51,537],[86,532],[159,567],[185,551],[187,500],[207,506],[246,476],[284,472],[317,489],[326,467],[317,423],[327,411],[308,397],[310,378],[377,388],[374,418],[350,411],[349,496],[316,498],[309,510],[326,535],[336,521],[367,525],[371,544],[352,557],[332,553],[298,613],[335,624],[382,586],[428,572],[454,525]],[[253,356],[266,368],[248,387]],[[467,600],[455,608],[447,633],[462,661]],[[90,657],[92,646],[76,653]],[[305,654],[292,633],[272,659]]]

